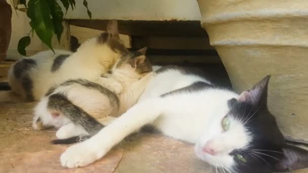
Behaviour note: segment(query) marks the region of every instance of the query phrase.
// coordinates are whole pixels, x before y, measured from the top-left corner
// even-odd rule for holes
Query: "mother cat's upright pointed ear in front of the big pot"
[[[270,80],[271,75],[267,75],[258,83],[256,83],[252,89],[244,91],[238,101],[240,102],[249,102],[255,106],[265,106],[267,105],[267,88],[268,81]]]

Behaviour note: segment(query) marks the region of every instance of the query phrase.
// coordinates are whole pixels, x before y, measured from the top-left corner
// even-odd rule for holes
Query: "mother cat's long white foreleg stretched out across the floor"
[[[103,157],[125,137],[159,117],[165,110],[165,105],[163,98],[137,103],[89,140],[69,147],[60,157],[62,166],[86,166]]]

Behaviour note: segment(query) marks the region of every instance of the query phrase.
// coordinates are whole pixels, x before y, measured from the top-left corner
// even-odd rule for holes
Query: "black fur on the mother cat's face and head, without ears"
[[[273,172],[273,167],[284,157],[282,146],[285,145],[275,117],[266,106],[253,106],[246,102],[238,102],[236,99],[229,100],[228,107],[230,109],[228,116],[244,121],[245,127],[253,134],[253,139],[247,148],[229,153],[232,156],[240,154],[247,160],[247,163],[243,163],[234,157],[237,162],[237,172]]]

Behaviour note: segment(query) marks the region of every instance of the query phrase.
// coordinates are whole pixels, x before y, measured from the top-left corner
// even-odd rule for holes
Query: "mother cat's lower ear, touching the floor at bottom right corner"
[[[284,157],[274,167],[274,172],[285,172],[289,170],[308,167],[308,151],[299,147],[286,145],[283,148]]]

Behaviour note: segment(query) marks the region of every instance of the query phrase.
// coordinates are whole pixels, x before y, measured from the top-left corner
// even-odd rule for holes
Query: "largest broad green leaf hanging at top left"
[[[46,1],[51,0],[29,0],[27,15],[31,19],[29,24],[37,36],[54,52],[51,45],[54,25]]]

